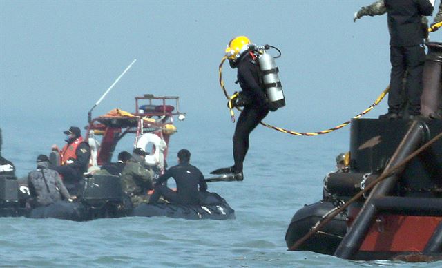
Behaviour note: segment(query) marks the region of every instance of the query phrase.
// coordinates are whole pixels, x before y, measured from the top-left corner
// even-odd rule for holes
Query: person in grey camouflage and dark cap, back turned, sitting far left
[[[69,195],[57,171],[49,169],[49,158],[46,155],[37,157],[37,169],[28,174],[28,187],[30,207],[48,206],[60,201],[61,197],[69,201],[75,198]]]

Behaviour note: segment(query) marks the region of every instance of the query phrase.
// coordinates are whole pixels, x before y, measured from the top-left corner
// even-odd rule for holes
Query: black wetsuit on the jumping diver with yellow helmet
[[[249,52],[238,59],[236,68],[242,95],[247,99],[233,135],[233,171],[238,173],[242,172],[242,163],[249,150],[249,134],[269,113],[269,103],[260,79],[260,68]]]

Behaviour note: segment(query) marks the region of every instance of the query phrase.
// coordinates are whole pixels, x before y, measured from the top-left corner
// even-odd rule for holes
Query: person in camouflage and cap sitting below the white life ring
[[[126,162],[122,170],[122,190],[131,198],[133,207],[148,202],[147,191],[153,188],[154,173],[142,166],[146,155],[143,149],[133,149],[131,160]]]

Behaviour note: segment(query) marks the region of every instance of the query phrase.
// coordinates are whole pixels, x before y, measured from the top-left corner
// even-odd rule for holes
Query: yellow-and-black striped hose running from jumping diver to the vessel
[[[220,86],[222,88],[222,91],[224,92],[224,95],[229,100],[229,109],[230,109],[230,114],[231,114],[232,122],[235,122],[235,114],[233,113],[233,106],[231,105],[231,102],[232,102],[232,99],[234,99],[234,97],[236,97],[236,96],[235,95],[230,96],[229,93],[227,93],[227,90],[226,90],[226,88],[224,86],[224,81],[222,80],[222,65],[224,64],[224,61],[226,61],[226,59],[227,59],[226,56],[222,57],[220,66],[218,67],[218,73],[219,73],[219,77],[220,77],[219,81],[220,81]],[[379,102],[381,102],[381,100],[385,97],[385,95],[387,95],[388,90],[390,90],[390,85],[387,86],[387,88],[385,88],[385,90],[383,90],[381,95],[379,95],[379,97],[374,101],[374,103],[372,105],[370,105],[368,108],[366,108],[364,111],[362,111],[358,115],[352,117],[352,119],[358,119],[359,117],[362,117],[363,115],[365,115],[369,111],[372,111],[374,106],[378,105]],[[238,111],[241,111],[239,108],[237,108],[237,109],[238,109]],[[329,129],[327,129],[325,131],[316,131],[316,132],[291,131],[291,130],[288,130],[288,129],[285,129],[285,128],[280,128],[278,126],[272,126],[272,125],[267,124],[267,123],[262,122],[262,121],[260,122],[260,124],[262,124],[262,126],[266,126],[267,128],[271,128],[271,129],[274,129],[276,131],[280,131],[282,133],[287,133],[287,134],[291,134],[291,135],[296,135],[296,136],[316,136],[316,135],[331,133],[331,132],[336,131],[336,130],[338,130],[340,128],[343,128],[344,126],[347,126],[348,124],[350,124],[352,122],[352,119],[349,119],[347,122],[344,122],[343,124],[335,126],[334,128],[329,128]]]

